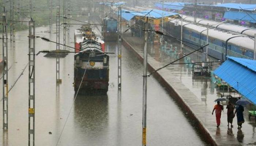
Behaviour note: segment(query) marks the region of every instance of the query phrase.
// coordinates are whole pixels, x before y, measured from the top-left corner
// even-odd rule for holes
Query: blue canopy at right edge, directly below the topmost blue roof
[[[231,20],[243,20],[256,23],[256,14],[253,13],[246,14],[245,12],[226,11],[223,17]]]

